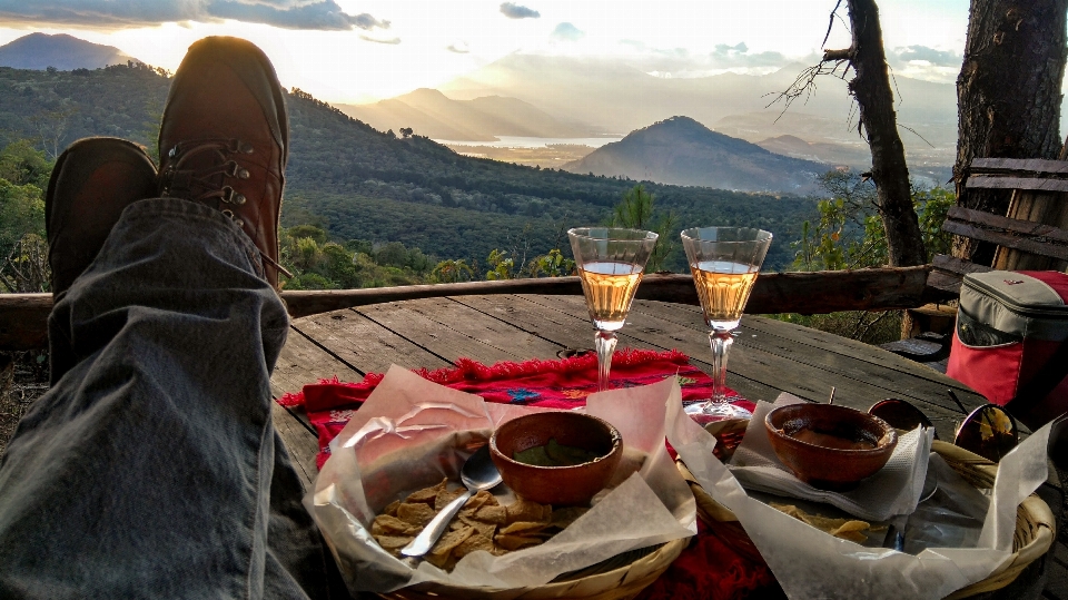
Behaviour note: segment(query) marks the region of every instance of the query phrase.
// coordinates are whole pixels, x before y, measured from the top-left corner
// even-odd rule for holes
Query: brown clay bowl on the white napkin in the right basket
[[[886,421],[833,404],[780,406],[764,417],[764,427],[782,464],[821,490],[856,488],[887,464],[898,444]],[[835,447],[853,444],[868,447]]]

